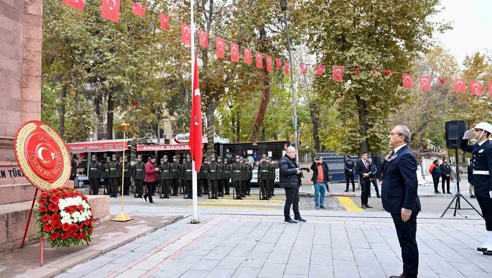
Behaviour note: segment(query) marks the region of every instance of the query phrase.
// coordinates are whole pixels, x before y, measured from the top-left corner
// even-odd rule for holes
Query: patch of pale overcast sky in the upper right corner
[[[492,50],[492,0],[441,0],[445,9],[435,20],[452,21],[453,30],[435,34],[458,62],[466,54]]]

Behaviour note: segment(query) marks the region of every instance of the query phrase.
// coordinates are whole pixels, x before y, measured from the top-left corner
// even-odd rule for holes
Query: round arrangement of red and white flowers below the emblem
[[[58,188],[41,193],[37,201],[39,233],[52,247],[69,247],[92,240],[92,208],[75,189]]]

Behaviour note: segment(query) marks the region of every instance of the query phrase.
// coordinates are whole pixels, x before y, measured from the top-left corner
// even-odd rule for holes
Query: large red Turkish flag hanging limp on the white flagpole
[[[202,105],[200,100],[200,82],[198,81],[198,61],[195,55],[193,69],[193,95],[191,98],[191,120],[189,122],[189,153],[193,155],[195,170],[202,166]]]

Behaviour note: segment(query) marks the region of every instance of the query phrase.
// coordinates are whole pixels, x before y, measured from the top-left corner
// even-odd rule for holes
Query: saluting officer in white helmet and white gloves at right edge
[[[478,251],[483,251],[484,255],[492,255],[492,142],[488,138],[491,133],[491,124],[479,123],[475,125],[473,132],[466,131],[461,141],[461,150],[472,153],[475,196],[482,210],[489,236],[487,242],[477,248]],[[472,135],[478,142],[475,145],[468,145],[468,139]]]

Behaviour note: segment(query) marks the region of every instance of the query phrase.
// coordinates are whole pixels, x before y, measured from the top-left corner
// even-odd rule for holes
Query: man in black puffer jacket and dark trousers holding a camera
[[[280,186],[285,189],[285,206],[283,207],[284,223],[297,224],[296,221],[306,222],[299,213],[299,182],[298,176],[302,175],[301,168],[293,159],[296,157],[296,149],[287,148],[287,153],[280,159]],[[290,218],[290,206],[294,211],[294,220]]]

